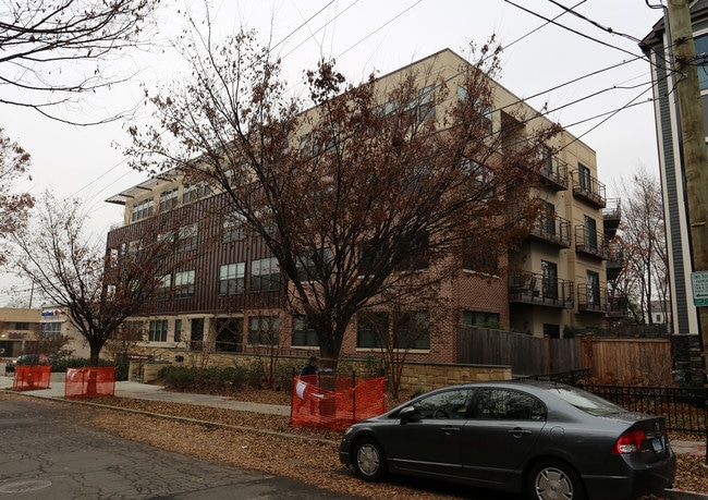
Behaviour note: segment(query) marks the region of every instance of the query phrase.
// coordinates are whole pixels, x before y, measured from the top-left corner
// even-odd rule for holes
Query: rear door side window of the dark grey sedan
[[[506,389],[483,389],[474,413],[488,420],[545,420],[547,416],[540,400]]]

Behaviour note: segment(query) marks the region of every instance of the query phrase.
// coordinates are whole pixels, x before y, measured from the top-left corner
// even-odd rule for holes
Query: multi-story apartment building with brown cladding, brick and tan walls
[[[387,80],[400,78],[411,68],[454,82],[464,64],[464,59],[443,50],[379,82],[384,85]],[[487,114],[490,131],[516,120],[504,111],[510,107],[550,124],[501,85],[493,84],[493,101]],[[608,314],[614,310],[608,298],[606,263],[610,257],[608,236],[613,236],[619,220],[618,207],[603,211],[608,204],[605,185],[597,179],[595,151],[565,131],[553,141],[548,147],[554,153],[532,190],[532,196],[546,204],[542,217],[522,247],[498,256],[497,273],[480,273],[462,264],[456,278],[441,288],[454,307],[447,319],[429,326],[450,338],[444,342],[424,338],[411,352],[411,361],[455,362],[455,342],[450,339],[462,325],[499,325],[539,337],[562,337],[606,325]],[[223,217],[228,212],[223,193],[203,184],[187,185],[173,170],[107,202],[125,207],[123,224],[108,234],[109,252],[139,246],[152,222],[170,216],[181,225],[175,252],[195,252],[187,267],[164,277],[164,293],[151,308],[132,318],[142,322],[149,346],[206,345],[221,352],[248,352],[263,343],[267,330],[277,329],[290,352],[317,347],[314,330],[283,308],[277,259],[259,236],[237,220]],[[207,241],[211,243],[196,252]],[[342,350],[346,355],[366,355],[376,351],[376,342],[354,320]]]

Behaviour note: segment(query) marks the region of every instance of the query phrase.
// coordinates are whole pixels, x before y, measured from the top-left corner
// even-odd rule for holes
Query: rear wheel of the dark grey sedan
[[[585,500],[583,481],[567,464],[544,461],[528,475],[528,498],[534,500]]]

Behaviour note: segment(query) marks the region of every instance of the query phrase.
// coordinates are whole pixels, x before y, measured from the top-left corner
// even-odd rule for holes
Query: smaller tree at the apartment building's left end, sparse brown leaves
[[[97,366],[101,349],[123,320],[145,310],[163,277],[184,263],[175,259],[172,241],[150,234],[139,246],[107,253],[102,242],[84,234],[86,219],[77,200],[61,203],[46,193],[34,223],[12,234],[19,249],[13,264],[64,310],[88,342],[91,366]],[[155,221],[162,228],[163,222]]]

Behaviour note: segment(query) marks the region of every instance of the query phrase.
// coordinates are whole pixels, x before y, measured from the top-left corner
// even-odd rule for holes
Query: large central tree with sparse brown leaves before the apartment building
[[[278,259],[322,368],[337,367],[358,310],[447,279],[471,241],[502,254],[537,217],[529,186],[557,129],[525,136],[506,109],[490,134],[493,47],[461,64],[453,105],[427,70],[354,86],[322,61],[305,110],[254,33],[202,41],[186,52],[192,80],[152,98],[159,126],[131,129],[134,167],[176,167],[228,194]]]

